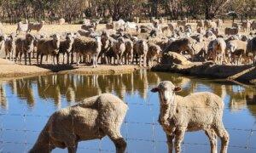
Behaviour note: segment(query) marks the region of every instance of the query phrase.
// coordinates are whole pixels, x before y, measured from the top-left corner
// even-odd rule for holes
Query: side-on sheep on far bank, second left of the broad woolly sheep
[[[53,56],[53,64],[55,65],[55,58],[56,55],[59,53],[60,43],[61,38],[59,34],[54,34],[52,38],[38,40],[37,64],[39,55],[41,56],[40,64],[42,65],[43,56],[50,54]]]

